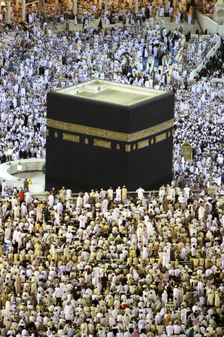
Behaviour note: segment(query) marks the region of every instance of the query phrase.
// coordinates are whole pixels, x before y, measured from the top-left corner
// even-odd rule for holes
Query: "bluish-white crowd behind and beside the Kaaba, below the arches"
[[[215,77],[223,45],[213,57],[216,62],[208,65],[208,79],[189,80],[195,59],[210,50],[214,37],[185,44],[177,29],[168,32],[159,24],[56,34],[38,23],[23,27],[14,21],[14,32],[1,31],[3,41],[13,37],[0,52],[1,163],[8,160],[9,146],[12,160],[45,158],[47,92],[99,78],[175,92],[174,180],[186,175],[192,187],[208,185],[211,179],[220,183],[223,92]],[[183,59],[174,63],[179,48]],[[159,67],[154,59],[159,59]],[[194,147],[191,164],[181,159],[180,145],[186,138]]]

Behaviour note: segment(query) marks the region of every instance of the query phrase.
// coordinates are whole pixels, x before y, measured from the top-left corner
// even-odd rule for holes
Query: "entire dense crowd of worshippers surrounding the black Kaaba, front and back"
[[[73,198],[67,186],[38,201],[25,181],[1,201],[0,336],[223,336],[223,43],[190,81],[214,38],[168,32],[152,20],[162,4],[142,5],[144,27],[118,2],[105,19],[120,14],[122,28],[56,33],[32,12],[12,32],[1,25],[1,41],[12,39],[0,53],[1,163],[8,147],[12,160],[45,158],[47,92],[89,79],[172,90],[175,132],[173,181],[159,196],[139,187],[131,198],[124,186]],[[95,19],[98,9],[85,6],[77,19]],[[181,156],[185,139],[192,162]],[[203,195],[192,198],[192,187]]]

